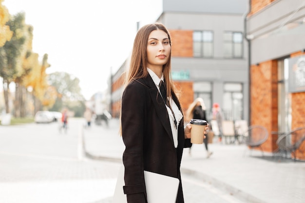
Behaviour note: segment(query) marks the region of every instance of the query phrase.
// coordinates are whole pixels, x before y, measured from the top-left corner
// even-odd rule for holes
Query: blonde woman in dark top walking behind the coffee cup
[[[187,122],[190,122],[191,119],[201,119],[208,121],[206,117],[206,105],[202,98],[198,97],[191,103],[187,110],[186,118]],[[207,158],[210,158],[213,152],[208,148],[208,135],[206,135],[206,137],[207,138],[204,139],[203,142],[207,150]],[[189,149],[189,154],[191,155],[191,148]]]

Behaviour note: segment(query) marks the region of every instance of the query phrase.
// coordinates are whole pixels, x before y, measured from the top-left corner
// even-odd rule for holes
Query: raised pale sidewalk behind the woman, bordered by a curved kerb
[[[119,122],[111,120],[109,127],[84,129],[87,156],[121,162],[124,144],[118,134]],[[212,156],[206,158],[203,145],[193,145],[183,153],[182,176],[220,188],[248,203],[304,203],[305,162],[272,158],[270,153],[250,151],[245,145],[209,145]]]

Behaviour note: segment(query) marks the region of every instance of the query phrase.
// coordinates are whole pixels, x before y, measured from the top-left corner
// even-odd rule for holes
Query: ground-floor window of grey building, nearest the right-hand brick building
[[[226,120],[243,120],[243,84],[225,83],[223,112]]]

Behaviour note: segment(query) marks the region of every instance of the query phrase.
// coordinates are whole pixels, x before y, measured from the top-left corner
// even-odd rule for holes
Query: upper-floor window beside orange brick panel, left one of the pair
[[[193,32],[193,55],[194,57],[213,57],[213,32]]]

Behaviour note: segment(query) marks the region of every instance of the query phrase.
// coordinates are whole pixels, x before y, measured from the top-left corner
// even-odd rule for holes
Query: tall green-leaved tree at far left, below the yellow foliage
[[[13,36],[0,47],[0,76],[3,78],[3,94],[6,112],[9,108],[9,84],[22,74],[20,55],[24,49],[26,36],[24,35],[25,14],[18,13],[7,22]]]

